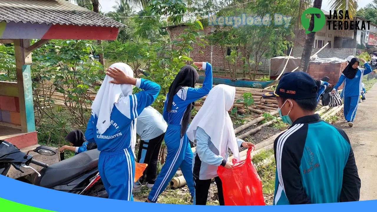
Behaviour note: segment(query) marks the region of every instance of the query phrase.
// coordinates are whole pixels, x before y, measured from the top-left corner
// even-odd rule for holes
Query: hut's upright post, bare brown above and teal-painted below
[[[14,54],[16,59],[16,75],[18,99],[20,102],[21,131],[35,131],[33,91],[31,82],[31,52],[30,40],[14,40]]]

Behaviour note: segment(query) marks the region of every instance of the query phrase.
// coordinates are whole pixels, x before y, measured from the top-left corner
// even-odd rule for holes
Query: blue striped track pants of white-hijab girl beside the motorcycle
[[[100,153],[98,171],[109,199],[133,201],[135,157],[131,148],[117,152]]]

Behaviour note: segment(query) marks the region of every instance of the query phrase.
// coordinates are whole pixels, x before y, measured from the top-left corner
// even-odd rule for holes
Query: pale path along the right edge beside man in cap
[[[361,179],[360,200],[377,199],[377,84],[359,104],[354,126],[336,124],[348,135]],[[343,121],[343,119],[341,120]]]

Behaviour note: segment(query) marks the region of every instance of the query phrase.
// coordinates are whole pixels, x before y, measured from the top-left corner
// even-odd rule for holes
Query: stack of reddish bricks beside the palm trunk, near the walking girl
[[[310,63],[308,68],[308,74],[310,74],[315,80],[320,80],[323,77],[329,77],[330,84],[336,84],[339,80],[342,71],[348,65],[347,62],[343,63]],[[338,89],[343,89],[341,85]]]

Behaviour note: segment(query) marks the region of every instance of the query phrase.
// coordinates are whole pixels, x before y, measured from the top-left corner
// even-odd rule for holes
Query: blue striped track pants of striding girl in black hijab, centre
[[[192,175],[193,154],[189,139],[186,134],[181,138],[181,125],[170,124],[166,130],[164,140],[167,148],[166,161],[149,193],[148,200],[151,202],[157,201],[158,196],[165,190],[178,168],[181,168],[183,177],[193,197],[195,191]]]

